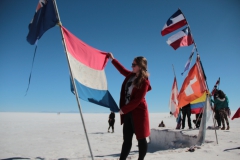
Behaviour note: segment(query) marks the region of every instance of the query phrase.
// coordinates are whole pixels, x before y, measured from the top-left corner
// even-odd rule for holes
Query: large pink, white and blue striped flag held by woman
[[[64,27],[62,31],[79,98],[118,112],[119,108],[107,88],[104,71],[107,53],[87,45]],[[74,93],[72,84],[71,91]]]

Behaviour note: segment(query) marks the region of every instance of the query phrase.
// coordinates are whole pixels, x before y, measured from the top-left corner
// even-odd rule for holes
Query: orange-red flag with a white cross
[[[199,58],[197,58],[196,63],[190,69],[179,92],[178,107],[181,108],[201,97],[207,90],[206,88],[206,83],[200,68]]]

